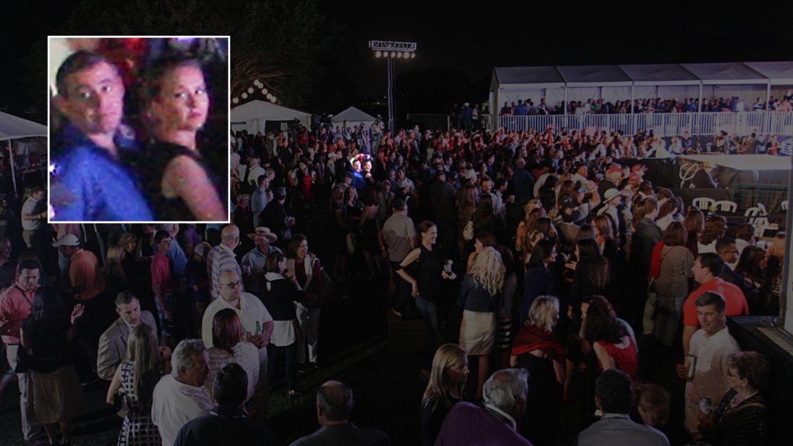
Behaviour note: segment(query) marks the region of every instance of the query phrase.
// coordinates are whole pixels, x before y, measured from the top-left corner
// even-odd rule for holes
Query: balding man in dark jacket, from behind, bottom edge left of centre
[[[354,406],[352,390],[339,381],[328,381],[316,390],[316,419],[320,429],[297,439],[290,446],[383,446],[388,434],[376,429],[358,428],[350,422]]]

